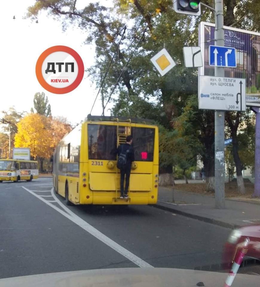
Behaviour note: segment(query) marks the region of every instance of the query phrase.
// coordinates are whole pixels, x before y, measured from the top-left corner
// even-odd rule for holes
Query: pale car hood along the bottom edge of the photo
[[[0,279],[0,287],[222,287],[226,273],[168,269],[117,268],[48,273]],[[259,286],[259,277],[237,274],[232,287]]]

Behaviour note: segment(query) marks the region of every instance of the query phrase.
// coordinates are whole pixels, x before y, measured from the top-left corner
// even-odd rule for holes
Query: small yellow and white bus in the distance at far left
[[[32,181],[38,178],[38,161],[0,159],[0,182],[19,180]]]

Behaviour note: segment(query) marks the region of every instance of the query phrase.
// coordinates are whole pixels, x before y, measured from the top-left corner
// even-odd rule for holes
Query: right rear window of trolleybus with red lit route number
[[[153,161],[155,129],[132,128],[134,160]]]

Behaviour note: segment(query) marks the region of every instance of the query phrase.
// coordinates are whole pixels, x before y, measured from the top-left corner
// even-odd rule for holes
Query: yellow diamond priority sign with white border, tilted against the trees
[[[176,65],[165,48],[152,57],[151,61],[162,76]]]

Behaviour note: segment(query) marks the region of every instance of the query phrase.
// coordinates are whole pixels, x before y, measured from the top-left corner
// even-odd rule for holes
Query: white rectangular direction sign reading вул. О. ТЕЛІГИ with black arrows
[[[199,76],[199,109],[219,111],[246,110],[246,80]]]

